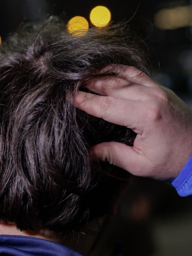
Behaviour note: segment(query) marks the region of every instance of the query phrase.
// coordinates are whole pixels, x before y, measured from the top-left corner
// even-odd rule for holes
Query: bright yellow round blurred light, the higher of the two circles
[[[111,12],[105,6],[96,6],[90,12],[90,21],[96,27],[104,27],[111,21]]]

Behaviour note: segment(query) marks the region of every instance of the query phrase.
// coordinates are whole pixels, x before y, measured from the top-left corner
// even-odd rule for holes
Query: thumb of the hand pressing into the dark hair
[[[149,164],[140,150],[119,142],[104,142],[92,147],[98,160],[109,162],[137,176],[146,174]],[[137,165],[136,165],[137,163]],[[145,171],[144,171],[145,168]],[[147,174],[146,174],[147,175]]]

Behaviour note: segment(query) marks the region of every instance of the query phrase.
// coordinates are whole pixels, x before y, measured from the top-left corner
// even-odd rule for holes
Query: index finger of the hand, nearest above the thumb
[[[117,99],[79,91],[74,104],[88,114],[126,126],[139,134],[143,132],[147,113],[143,101]]]

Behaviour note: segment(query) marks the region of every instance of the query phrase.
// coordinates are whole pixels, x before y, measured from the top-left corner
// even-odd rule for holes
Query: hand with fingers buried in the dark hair
[[[137,136],[133,147],[106,142],[95,145],[94,154],[136,176],[175,178],[192,155],[192,111],[136,68],[110,68],[118,76],[90,80],[86,87],[99,95],[78,92],[75,106]]]

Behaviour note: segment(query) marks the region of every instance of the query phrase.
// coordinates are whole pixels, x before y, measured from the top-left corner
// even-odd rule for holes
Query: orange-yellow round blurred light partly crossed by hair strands
[[[84,36],[88,29],[88,21],[81,16],[75,16],[71,18],[67,23],[67,30],[73,36]]]

